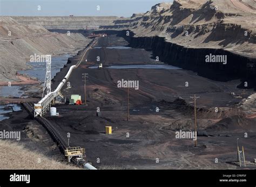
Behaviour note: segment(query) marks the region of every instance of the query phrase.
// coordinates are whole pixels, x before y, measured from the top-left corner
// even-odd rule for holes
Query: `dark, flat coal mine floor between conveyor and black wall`
[[[240,169],[234,164],[237,160],[237,138],[239,146],[245,148],[246,160],[255,159],[255,120],[242,121],[242,112],[236,105],[252,91],[237,89],[239,80],[216,82],[183,69],[106,68],[122,64],[162,64],[145,49],[106,48],[127,45],[116,35],[99,38],[96,48],[90,49],[69,78],[71,88],[65,85],[62,91],[66,98],[73,94],[81,95],[84,103],[82,74],[89,74],[87,106],[56,104],[59,116],[46,116],[63,135],[71,133],[70,143],[84,147],[87,160],[93,166],[102,169]],[[103,69],[88,68],[97,66],[97,56],[103,63]],[[55,76],[53,88],[78,58],[71,58],[71,63]],[[127,89],[117,88],[117,81],[122,78],[139,81],[139,90],[129,89],[129,121]],[[235,96],[231,92],[235,92]],[[190,98],[194,94],[200,97],[197,99],[198,129],[206,130],[209,135],[199,136],[197,147],[191,139],[176,138],[176,131],[180,129],[194,130],[193,100]],[[179,97],[187,104],[182,99],[177,100]],[[102,117],[96,116],[97,107]],[[220,113],[214,111],[215,107]],[[25,111],[19,115],[25,118]],[[19,120],[16,116],[9,121],[16,127]],[[218,124],[220,120],[224,121]],[[111,135],[105,134],[105,126],[112,126]],[[248,138],[244,137],[245,133]],[[216,159],[218,163],[215,163]],[[255,165],[251,163],[248,168],[255,168]]]

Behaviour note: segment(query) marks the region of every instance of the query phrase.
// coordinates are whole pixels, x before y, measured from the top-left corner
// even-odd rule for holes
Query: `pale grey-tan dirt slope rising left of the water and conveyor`
[[[21,82],[16,71],[28,69],[30,55],[75,54],[89,42],[79,33],[51,33],[40,25],[24,25],[11,17],[0,17],[0,81]]]

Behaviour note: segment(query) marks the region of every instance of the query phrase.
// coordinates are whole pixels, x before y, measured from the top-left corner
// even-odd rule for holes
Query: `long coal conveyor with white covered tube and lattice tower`
[[[55,102],[56,97],[60,96],[61,98],[64,98],[62,94],[60,93],[62,87],[70,77],[72,70],[77,68],[79,64],[82,62],[87,50],[95,44],[95,41],[91,42],[91,44],[85,49],[83,54],[80,56],[79,61],[76,65],[73,65],[69,68],[68,73],[63,78],[62,82],[59,83],[58,87],[55,89],[55,91],[51,91],[51,59],[48,55],[48,60],[46,61],[46,78],[45,78],[45,88],[47,89],[47,94],[38,102],[34,104],[34,107],[31,107],[31,104],[28,103],[22,103],[25,109],[29,112],[30,116],[34,117],[38,123],[42,124],[45,129],[51,134],[52,138],[58,143],[60,149],[65,153],[65,156],[68,156],[68,161],[76,163],[78,166],[83,166],[86,169],[96,169],[93,167],[90,163],[86,162],[85,157],[85,149],[81,147],[70,147],[69,141],[67,142],[65,138],[63,137],[62,133],[59,132],[58,128],[56,128],[55,125],[51,124],[51,122],[47,119],[45,119],[43,114],[46,113],[47,110],[49,110],[49,107],[51,107],[51,104]],[[78,95],[79,96],[79,95]],[[77,100],[76,100],[77,101]],[[81,99],[78,99],[78,103],[82,104]],[[53,109],[53,108],[52,108]],[[55,112],[56,113],[56,109]]]

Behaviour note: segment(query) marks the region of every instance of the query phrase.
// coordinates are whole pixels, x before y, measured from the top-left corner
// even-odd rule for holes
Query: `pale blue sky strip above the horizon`
[[[0,16],[130,17],[132,13],[144,13],[161,2],[172,0],[0,0]]]

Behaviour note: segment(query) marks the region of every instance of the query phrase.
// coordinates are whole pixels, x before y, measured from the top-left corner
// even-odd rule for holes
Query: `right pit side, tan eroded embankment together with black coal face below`
[[[123,32],[131,47],[150,49],[161,61],[216,81],[240,79],[238,87],[248,89],[256,88],[255,16],[250,1],[175,1],[100,28]],[[226,55],[226,64],[206,63],[210,54]]]

